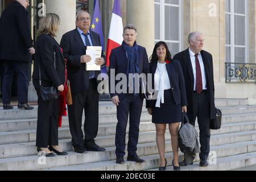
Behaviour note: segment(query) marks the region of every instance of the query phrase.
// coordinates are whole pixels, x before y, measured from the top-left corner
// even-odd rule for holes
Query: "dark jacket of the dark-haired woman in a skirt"
[[[150,73],[152,73],[152,87],[154,88],[155,72],[158,65],[158,61],[150,63]],[[185,82],[183,72],[179,61],[173,60],[171,63],[166,64],[167,73],[169,76],[172,94],[176,104],[187,106],[187,97],[185,93]],[[152,108],[156,104],[156,100],[147,100],[146,107]]]

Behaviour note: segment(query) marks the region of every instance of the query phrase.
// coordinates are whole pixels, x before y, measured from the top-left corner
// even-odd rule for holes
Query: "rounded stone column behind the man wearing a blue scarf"
[[[148,56],[155,45],[155,5],[154,0],[127,1],[126,24],[134,24],[138,29],[137,43],[146,47]]]

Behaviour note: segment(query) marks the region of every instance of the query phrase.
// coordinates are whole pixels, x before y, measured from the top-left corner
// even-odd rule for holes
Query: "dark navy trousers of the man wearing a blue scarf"
[[[117,128],[115,133],[115,155],[125,156],[125,137],[126,126],[129,115],[129,141],[128,154],[133,156],[137,151],[137,144],[139,139],[139,122],[141,121],[143,99],[141,96],[134,96],[134,94],[125,94],[122,101],[117,106]]]

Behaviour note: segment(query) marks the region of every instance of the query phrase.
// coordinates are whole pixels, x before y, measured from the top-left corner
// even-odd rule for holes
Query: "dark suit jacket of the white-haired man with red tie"
[[[214,105],[214,78],[213,78],[213,59],[212,55],[207,51],[201,51],[201,55],[204,62],[204,69],[205,69],[205,76],[207,79],[207,95],[208,101],[210,104],[210,119],[216,118],[216,111]],[[192,93],[193,93],[193,85],[194,85],[194,76],[193,76],[193,68],[191,64],[191,59],[189,55],[189,49],[186,49],[183,52],[177,53],[174,56],[174,59],[179,60],[181,67],[183,69],[184,79],[185,79],[185,87],[187,93],[187,100],[188,100],[188,113],[189,109],[193,109],[193,100],[192,100]],[[193,116],[193,118],[195,118]]]

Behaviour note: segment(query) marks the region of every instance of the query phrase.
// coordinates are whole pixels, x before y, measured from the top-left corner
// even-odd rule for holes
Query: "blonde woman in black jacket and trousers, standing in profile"
[[[47,14],[40,19],[38,39],[36,40],[36,56],[33,84],[38,95],[38,125],[36,129],[36,146],[38,152],[46,156],[67,155],[59,147],[58,142],[58,117],[60,111],[59,98],[44,101],[40,93],[39,65],[42,86],[55,86],[58,92],[64,91],[65,63],[59,44],[54,37],[59,28],[59,16]]]

